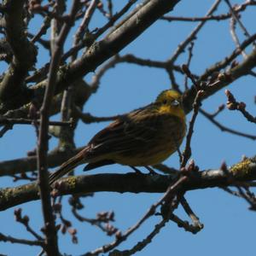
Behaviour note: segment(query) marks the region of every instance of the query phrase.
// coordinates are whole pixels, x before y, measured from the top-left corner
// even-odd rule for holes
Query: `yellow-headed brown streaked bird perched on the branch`
[[[120,164],[154,166],[166,160],[179,148],[186,134],[182,95],[176,90],[163,90],[156,100],[143,108],[119,115],[96,133],[90,142],[59,169],[49,174],[49,184],[87,164],[84,171]]]

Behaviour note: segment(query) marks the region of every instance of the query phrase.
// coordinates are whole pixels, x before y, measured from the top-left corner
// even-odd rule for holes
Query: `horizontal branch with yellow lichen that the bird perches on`
[[[231,178],[230,178],[231,177]],[[256,157],[243,160],[232,166],[230,172],[224,170],[207,170],[192,173],[179,192],[193,189],[218,188],[237,185],[239,182],[250,182],[256,179]],[[96,174],[61,179],[58,195],[84,194],[90,192],[131,192],[131,193],[164,193],[172,183],[173,176],[127,174]],[[65,181],[65,182],[64,182]],[[0,190],[0,211],[15,207],[28,201],[38,200],[38,186],[35,183],[15,188]]]

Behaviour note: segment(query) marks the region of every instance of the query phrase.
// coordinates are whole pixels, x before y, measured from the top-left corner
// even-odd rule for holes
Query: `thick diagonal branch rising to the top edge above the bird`
[[[135,15],[131,15],[130,19],[125,20],[106,38],[92,44],[79,60],[61,67],[56,79],[55,94],[66,89],[69,84],[87,73],[95,71],[96,67],[124,49],[126,45],[141,35],[148,26],[151,26],[162,15],[171,11],[178,2],[179,0],[148,1],[141,9],[137,10]],[[45,86],[45,80],[34,86],[34,94],[42,94],[42,88],[45,88]]]

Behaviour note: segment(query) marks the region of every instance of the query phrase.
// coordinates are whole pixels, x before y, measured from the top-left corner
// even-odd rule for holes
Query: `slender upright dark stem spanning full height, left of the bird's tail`
[[[61,51],[67,38],[67,34],[73,26],[75,15],[79,8],[79,0],[74,0],[69,15],[69,22],[61,28],[60,35],[52,48],[52,59],[49,66],[49,80],[44,94],[44,102],[41,109],[40,131],[38,137],[38,180],[39,192],[42,201],[45,236],[47,240],[46,251],[48,255],[58,255],[59,249],[56,238],[55,220],[50,205],[49,197],[49,177],[47,172],[47,150],[48,150],[48,126],[49,111],[52,97],[55,93],[56,73],[61,61]]]

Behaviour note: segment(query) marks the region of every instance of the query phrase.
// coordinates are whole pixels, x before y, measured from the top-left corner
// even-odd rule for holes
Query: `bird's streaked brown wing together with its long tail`
[[[137,115],[139,111],[132,112]],[[136,122],[134,116],[124,115],[116,119],[102,131],[99,131],[90,143],[71,158],[64,162],[60,168],[51,173],[49,183],[52,184],[56,179],[64,176],[74,167],[83,163],[89,163],[85,166],[85,171],[90,169],[113,164],[113,155],[128,152],[129,150],[139,150],[139,146],[146,146],[148,140],[154,137],[156,130],[145,122]]]

